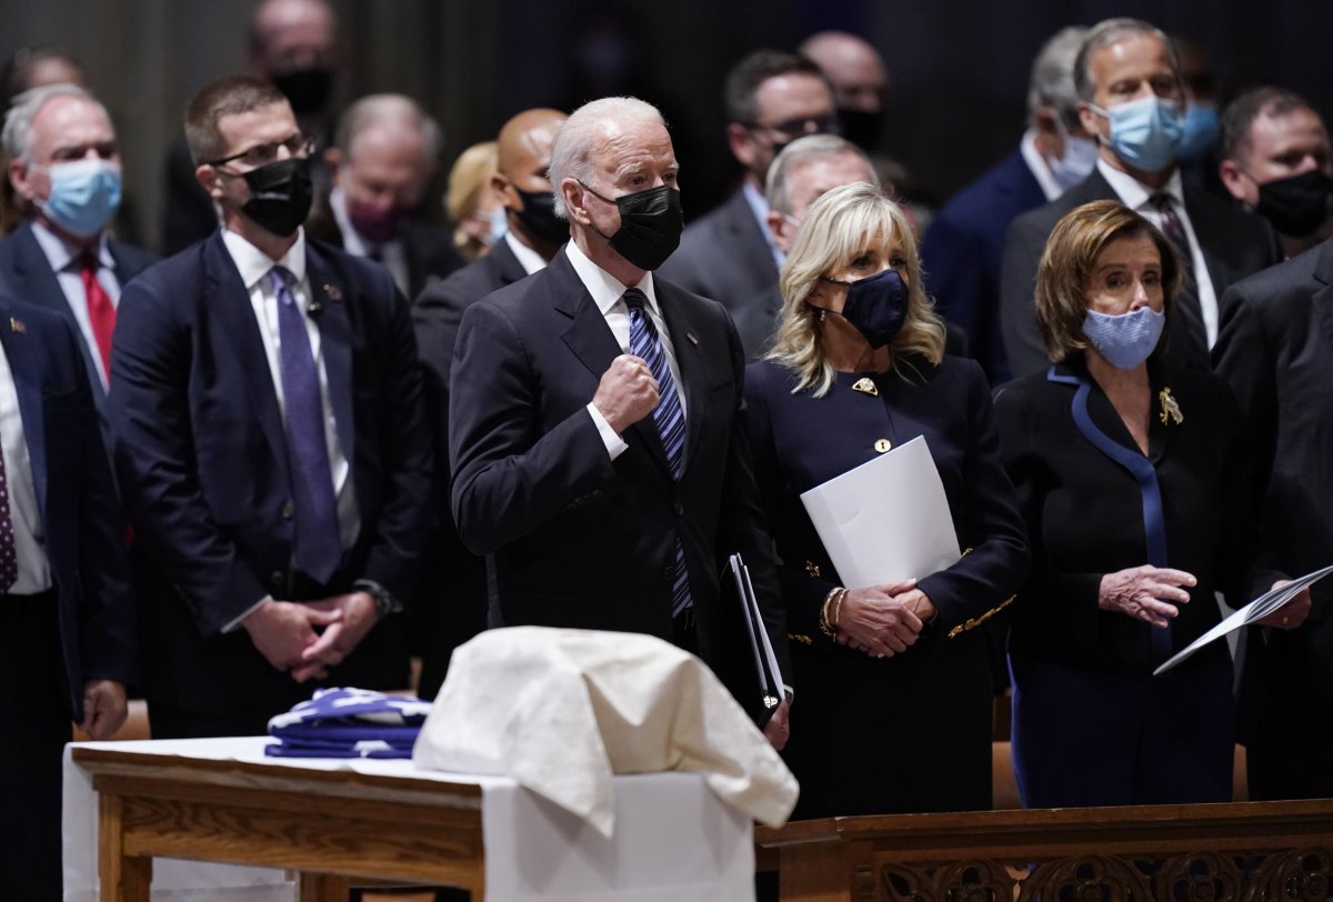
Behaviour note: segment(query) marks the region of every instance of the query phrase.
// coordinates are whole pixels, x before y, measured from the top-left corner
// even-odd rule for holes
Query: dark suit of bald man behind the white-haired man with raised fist
[[[453,344],[468,306],[527,274],[509,242],[500,240],[487,256],[447,278],[432,280],[412,305],[427,418],[435,437],[436,554],[428,565],[431,578],[424,589],[440,596],[413,612],[417,617],[413,640],[419,642],[417,653],[421,656],[417,694],[423,698],[433,698],[440,689],[453,649],[487,626],[485,560],[463,545],[449,510],[449,368],[453,365]]]

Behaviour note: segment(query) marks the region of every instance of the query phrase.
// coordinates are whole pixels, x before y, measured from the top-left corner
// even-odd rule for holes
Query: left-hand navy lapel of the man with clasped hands
[[[236,264],[227,253],[221,232],[215,232],[204,248],[204,308],[217,320],[236,352],[239,369],[249,386],[255,417],[284,476],[289,477],[287,437],[283,430],[283,416],[277,409],[277,389],[268,366],[268,354],[264,353],[264,341],[255,321],[249,292],[245,290]]]

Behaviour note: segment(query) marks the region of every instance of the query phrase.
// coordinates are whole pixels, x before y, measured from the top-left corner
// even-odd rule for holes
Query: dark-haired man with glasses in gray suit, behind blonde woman
[[[768,233],[764,180],[784,147],[836,132],[833,89],[814,63],[797,53],[756,51],[726,75],[726,143],[745,168],[741,187],[692,223],[663,276],[710,297],[737,316],[777,284],[782,252]]]

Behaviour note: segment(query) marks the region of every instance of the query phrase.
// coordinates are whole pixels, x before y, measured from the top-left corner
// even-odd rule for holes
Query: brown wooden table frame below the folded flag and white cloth
[[[483,898],[476,785],[104,747],[72,757],[99,793],[103,902],[148,902],[155,855],[296,870],[301,902],[345,902],[349,878]]]

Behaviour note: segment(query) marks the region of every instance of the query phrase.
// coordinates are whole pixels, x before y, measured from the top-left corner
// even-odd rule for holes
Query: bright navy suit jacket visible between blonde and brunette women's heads
[[[1046,195],[1014,151],[960,191],[930,220],[921,242],[926,293],[968,336],[972,356],[992,385],[1009,378],[1000,333],[1000,264],[1009,224],[1041,207]]]

